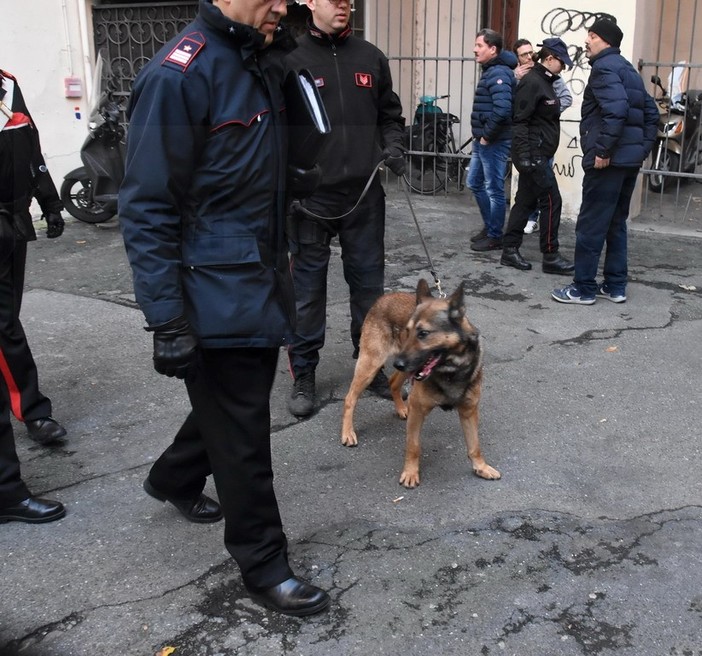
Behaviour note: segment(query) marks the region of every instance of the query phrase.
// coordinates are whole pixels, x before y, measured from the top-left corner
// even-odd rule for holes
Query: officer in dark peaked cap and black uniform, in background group
[[[538,61],[517,86],[512,120],[512,161],[519,171],[519,184],[503,238],[500,263],[529,270],[531,264],[519,252],[524,227],[537,204],[541,216],[540,248],[544,273],[570,273],[573,264],[558,252],[561,223],[561,194],[549,166],[561,138],[561,109],[553,88],[565,66],[572,66],[566,44],[545,39]]]

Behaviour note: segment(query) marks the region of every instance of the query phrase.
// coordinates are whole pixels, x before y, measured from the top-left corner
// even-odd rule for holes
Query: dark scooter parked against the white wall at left
[[[66,211],[85,223],[103,223],[117,214],[117,195],[124,178],[125,131],[120,107],[102,79],[98,57],[93,89],[97,100],[88,121],[88,137],[80,149],[83,166],[67,173],[61,185]]]

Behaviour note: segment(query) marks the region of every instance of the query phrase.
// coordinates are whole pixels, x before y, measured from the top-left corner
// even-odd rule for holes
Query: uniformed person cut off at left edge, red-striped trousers
[[[0,70],[0,522],[48,522],[56,502],[32,497],[20,477],[10,411],[41,444],[66,434],[39,391],[37,368],[20,322],[27,242],[37,238],[29,207],[36,198],[47,237],[63,233],[63,206],[41,154],[39,133],[17,80]]]

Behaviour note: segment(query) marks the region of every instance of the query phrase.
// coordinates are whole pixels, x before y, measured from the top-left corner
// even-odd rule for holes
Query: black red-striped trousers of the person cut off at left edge
[[[2,248],[0,252],[0,507],[14,505],[30,496],[20,476],[10,412],[20,421],[47,417],[51,414],[51,402],[39,392],[37,368],[19,319],[27,243],[3,241]]]

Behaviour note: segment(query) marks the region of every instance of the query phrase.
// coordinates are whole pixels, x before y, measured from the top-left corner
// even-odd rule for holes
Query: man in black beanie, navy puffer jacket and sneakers
[[[582,104],[583,196],[575,227],[573,283],[554,289],[559,303],[592,305],[597,297],[626,301],[629,204],[641,164],[653,148],[658,109],[634,67],[621,56],[621,29],[599,19],[585,51],[592,71]],[[607,244],[603,277],[597,266]]]

